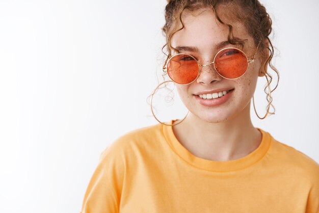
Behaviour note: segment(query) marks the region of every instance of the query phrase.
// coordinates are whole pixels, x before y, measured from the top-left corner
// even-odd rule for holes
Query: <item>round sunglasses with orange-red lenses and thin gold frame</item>
[[[248,59],[241,49],[226,47],[217,52],[213,62],[205,65],[199,64],[198,59],[190,54],[176,54],[163,67],[163,75],[168,74],[172,81],[177,84],[187,85],[198,78],[201,70],[199,69],[200,66],[204,67],[213,64],[220,76],[226,79],[240,78],[246,73],[248,65],[254,62],[257,49],[254,57]]]

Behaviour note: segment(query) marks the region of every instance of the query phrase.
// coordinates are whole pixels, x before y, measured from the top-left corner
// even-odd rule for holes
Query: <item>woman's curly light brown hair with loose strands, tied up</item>
[[[195,13],[206,9],[212,9],[216,19],[220,23],[228,26],[229,31],[227,40],[230,44],[243,45],[244,40],[234,38],[233,26],[230,23],[227,23],[226,20],[240,21],[246,28],[248,34],[252,36],[254,44],[257,45],[259,43],[259,51],[265,52],[265,50],[268,49],[269,57],[263,62],[264,72],[262,74],[265,75],[267,79],[270,79],[264,88],[264,92],[267,94],[266,98],[274,109],[270,114],[274,114],[275,108],[272,104],[271,92],[278,86],[279,72],[272,64],[274,47],[269,38],[272,33],[272,19],[265,7],[261,5],[258,0],[168,0],[168,4],[165,7],[166,23],[162,28],[164,36],[166,37],[166,44],[162,47],[162,52],[167,56],[165,64],[172,56],[172,49],[176,50],[171,46],[172,36],[184,28],[182,22],[183,12]],[[222,14],[223,17],[227,17],[227,19],[222,20],[219,14]],[[181,28],[179,29],[177,29],[178,23],[181,24]],[[164,51],[165,47],[167,47],[168,54]],[[178,50],[176,51],[178,52]],[[273,81],[273,76],[267,71],[268,66],[270,66],[278,76],[275,88],[270,89],[269,91],[267,91],[267,88]]]

